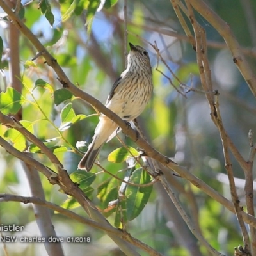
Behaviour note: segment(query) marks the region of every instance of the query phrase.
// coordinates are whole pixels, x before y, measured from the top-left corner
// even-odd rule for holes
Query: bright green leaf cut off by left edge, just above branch
[[[4,114],[16,114],[26,99],[17,90],[8,87],[0,93],[0,111]]]

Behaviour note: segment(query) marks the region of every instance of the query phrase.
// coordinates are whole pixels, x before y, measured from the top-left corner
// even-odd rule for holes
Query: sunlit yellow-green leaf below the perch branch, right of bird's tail
[[[130,146],[127,146],[127,148],[131,153],[125,147],[116,148],[108,155],[108,161],[112,163],[122,163],[132,155],[139,156],[139,152],[135,148]]]

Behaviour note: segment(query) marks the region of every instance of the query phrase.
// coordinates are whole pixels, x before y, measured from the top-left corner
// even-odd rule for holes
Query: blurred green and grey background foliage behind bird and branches
[[[38,9],[37,2],[22,1],[25,5],[24,21],[26,26],[47,46],[47,50],[63,67],[70,80],[101,102],[105,102],[112,84],[125,68],[124,1],[107,1],[113,5],[95,12],[94,17],[93,13],[86,12],[83,8],[83,4],[87,2],[80,2],[49,1],[54,15],[51,26],[45,15],[42,15],[41,10]],[[177,89],[184,93],[179,87],[179,81],[173,77],[162,61],[157,60],[156,51],[147,44],[147,41],[151,44],[156,41],[161,56],[175,76],[179,77],[182,83],[201,89],[196,53],[186,40],[172,4],[168,0],[127,2],[128,42],[143,45],[148,50],[154,76],[154,97],[139,118],[143,131],[159,152],[173,157],[174,161],[189,168],[193,174],[230,199],[227,179],[225,175],[221,175],[225,173],[221,140],[211,121],[205,95],[189,92],[184,97],[179,93]],[[205,2],[230,24],[246,58],[254,69],[256,2],[244,0]],[[99,6],[98,1],[88,1],[88,3]],[[223,38],[204,18],[200,15],[196,17],[207,33],[212,82],[214,89],[220,92],[220,110],[225,129],[239,152],[247,159],[248,131],[255,129],[255,99],[234,65]],[[48,18],[52,19],[52,17]],[[8,24],[1,20],[0,26],[0,36],[4,43],[0,84],[1,90],[5,91],[4,86],[9,83],[10,72]],[[76,148],[77,141],[85,140],[90,143],[98,117],[92,115],[95,111],[86,102],[79,98],[72,98],[70,102],[76,115],[83,114],[87,117],[76,122],[67,131],[58,131],[56,127],[61,125],[61,110],[67,102],[56,106],[51,90],[34,88],[34,86],[37,79],[44,79],[54,90],[61,88],[61,84],[51,67],[47,67],[44,63],[43,58],[36,58],[35,65],[24,65],[26,61],[36,56],[35,48],[24,35],[20,35],[19,53],[24,84],[22,95],[26,98],[26,103],[22,106],[23,119],[33,122],[34,134],[40,140],[56,138],[56,145],[67,147],[68,151],[56,152],[56,156],[61,159],[68,173],[72,173],[76,171],[77,163],[81,158],[81,155],[72,149]],[[172,80],[172,84],[167,77]],[[0,129],[3,135],[6,127],[1,125]],[[127,145],[136,147],[129,138],[121,136]],[[111,173],[125,168],[124,163],[110,163],[107,160],[108,154],[118,147],[121,145],[115,138],[100,152],[100,164]],[[22,172],[20,162],[6,153],[4,148],[0,149],[0,154],[0,193],[29,195],[28,181]],[[35,154],[35,157],[52,168],[44,155]],[[235,177],[243,179],[243,171],[234,159],[232,159],[232,165]],[[92,172],[99,171],[99,167],[95,165]],[[107,173],[100,172],[90,185],[95,189],[91,198],[96,205],[100,205],[96,196],[97,188],[109,177]],[[44,177],[42,177],[42,183],[47,200],[54,204],[65,202],[67,196],[61,194],[58,188],[49,184]],[[180,202],[189,216],[200,225],[202,234],[216,250],[231,255],[234,246],[243,243],[236,216],[228,212],[223,205],[214,202],[212,198],[182,179],[175,179],[173,188],[176,189]],[[242,186],[238,188],[238,192],[243,205]],[[195,202],[188,200],[188,194],[193,195]],[[74,211],[84,215],[79,207]],[[92,239],[90,244],[63,243],[65,255],[76,253],[79,256],[84,255],[84,252],[86,255],[122,255],[116,249],[115,243],[103,232],[76,221],[67,220],[54,212],[52,212],[52,219],[58,236],[90,236]],[[113,214],[108,220],[114,223]],[[15,202],[1,203],[0,223],[25,225],[25,232],[17,234],[19,236],[40,236],[31,205]],[[172,209],[172,202],[166,199],[163,188],[160,188],[159,184],[154,186],[149,202],[140,216],[128,223],[127,230],[132,236],[156,248],[163,255],[209,255],[205,248],[196,244],[196,239],[180,220],[179,214]],[[184,230],[188,235],[184,234]],[[189,244],[193,246],[189,247]],[[0,246],[3,244],[0,243]],[[17,243],[15,246],[12,244],[6,244],[6,246],[9,255],[46,255],[42,243]],[[4,255],[3,252],[0,252],[0,255]]]

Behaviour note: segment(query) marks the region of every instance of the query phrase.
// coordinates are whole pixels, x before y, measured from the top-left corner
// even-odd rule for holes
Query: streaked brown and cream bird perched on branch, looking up
[[[145,109],[153,92],[152,68],[148,52],[140,45],[129,43],[127,68],[115,81],[106,100],[106,107],[131,122]],[[100,114],[92,143],[77,168],[90,172],[104,143],[116,135],[118,125],[106,115]]]

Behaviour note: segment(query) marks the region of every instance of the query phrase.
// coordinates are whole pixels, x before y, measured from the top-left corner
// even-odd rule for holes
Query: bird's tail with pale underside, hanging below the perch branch
[[[118,125],[106,116],[100,116],[100,122],[95,129],[93,141],[78,164],[79,169],[85,169],[87,172],[90,172],[100,149],[117,127]]]

